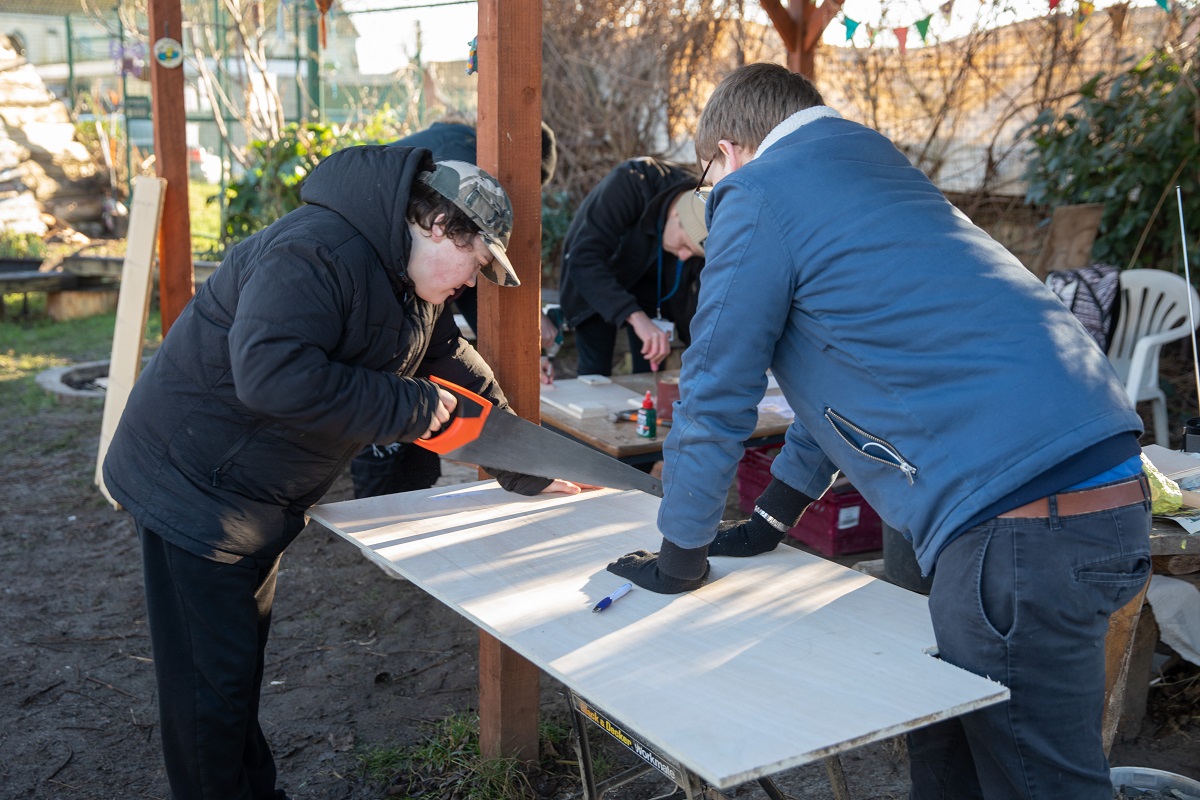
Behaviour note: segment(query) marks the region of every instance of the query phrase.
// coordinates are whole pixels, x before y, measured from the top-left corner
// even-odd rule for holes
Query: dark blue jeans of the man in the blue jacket
[[[1109,614],[1150,578],[1150,501],[1001,518],[937,559],[938,656],[1007,703],[908,735],[912,800],[1111,800],[1100,726]]]

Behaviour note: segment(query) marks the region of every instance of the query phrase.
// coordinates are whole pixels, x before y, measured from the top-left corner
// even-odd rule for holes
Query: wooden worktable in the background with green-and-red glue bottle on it
[[[678,377],[679,372],[677,369],[666,371],[661,374]],[[637,395],[644,395],[647,391],[654,392],[655,380],[655,373],[650,372],[612,377],[614,384]],[[768,389],[767,396],[782,398],[779,389]],[[758,425],[751,438],[746,440],[746,446],[781,444],[784,433],[791,422],[791,416],[775,410],[760,411]],[[606,416],[580,419],[545,401],[541,403],[541,423],[628,464],[660,461],[662,458],[662,443],[671,431],[670,427],[660,425],[655,438],[643,439],[637,435],[636,426],[632,422],[613,422]]]

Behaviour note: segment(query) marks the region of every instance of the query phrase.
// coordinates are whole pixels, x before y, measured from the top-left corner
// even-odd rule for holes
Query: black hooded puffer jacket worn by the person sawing
[[[230,248],[134,385],[104,461],[140,524],[198,555],[272,558],[355,452],[428,428],[437,391],[418,377],[506,407],[452,315],[407,277],[409,187],[431,167],[425,149],[334,154],[304,184],[308,205]]]

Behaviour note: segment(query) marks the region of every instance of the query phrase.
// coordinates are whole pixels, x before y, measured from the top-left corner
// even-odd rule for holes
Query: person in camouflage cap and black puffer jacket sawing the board
[[[446,300],[517,285],[492,176],[421,148],[325,158],[307,205],[229,249],[130,395],[104,482],[142,540],[174,800],[278,800],[258,722],[280,558],[372,441],[427,438],[445,378],[506,408]],[[486,469],[486,467],[485,467]],[[491,470],[521,494],[565,481]]]

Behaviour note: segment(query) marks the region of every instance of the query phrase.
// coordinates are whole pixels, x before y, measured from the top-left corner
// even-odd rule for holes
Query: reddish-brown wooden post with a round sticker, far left
[[[150,0],[150,49],[163,38],[184,41],[179,0]],[[192,223],[187,211],[187,115],[184,110],[184,66],[163,66],[150,58],[154,109],[155,172],[167,180],[158,229],[158,302],[166,336],[196,290],[192,271]]]

